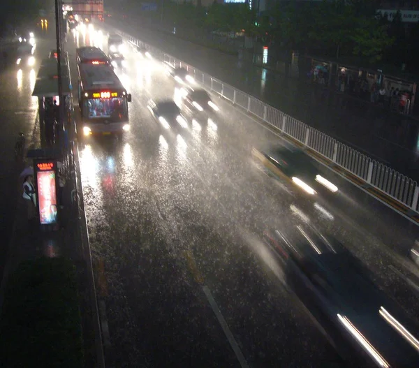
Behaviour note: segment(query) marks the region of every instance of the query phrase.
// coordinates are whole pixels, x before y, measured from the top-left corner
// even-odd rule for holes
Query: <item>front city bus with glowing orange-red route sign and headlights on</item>
[[[129,130],[131,94],[105,61],[78,63],[78,101],[85,137],[119,135]]]

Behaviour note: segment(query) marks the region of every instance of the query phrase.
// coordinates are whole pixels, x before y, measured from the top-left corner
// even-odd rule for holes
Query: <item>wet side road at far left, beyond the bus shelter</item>
[[[34,29],[36,32],[36,29]],[[23,58],[19,65],[17,59],[10,57],[8,64],[0,72],[0,274],[7,256],[8,243],[12,233],[17,205],[18,177],[23,168],[21,161],[15,160],[15,142],[19,132],[24,133],[26,146],[39,144],[38,98],[32,97],[36,73],[41,55],[54,47],[50,35],[36,32],[34,59]],[[45,57],[45,56],[44,56]],[[32,64],[33,63],[33,64]]]

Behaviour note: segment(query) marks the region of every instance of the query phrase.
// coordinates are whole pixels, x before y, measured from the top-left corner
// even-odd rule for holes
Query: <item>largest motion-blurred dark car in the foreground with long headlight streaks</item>
[[[418,325],[333,238],[309,226],[265,232],[286,283],[351,367],[419,367]]]

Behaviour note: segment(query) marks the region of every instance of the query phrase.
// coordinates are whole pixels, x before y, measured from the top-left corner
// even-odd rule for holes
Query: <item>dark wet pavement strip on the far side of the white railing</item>
[[[249,60],[156,29],[139,27],[133,20],[115,18],[105,22],[419,180],[416,119],[332,89],[285,78]]]

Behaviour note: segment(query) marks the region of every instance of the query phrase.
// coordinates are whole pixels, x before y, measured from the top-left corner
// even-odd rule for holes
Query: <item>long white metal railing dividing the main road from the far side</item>
[[[110,26],[107,25],[107,27]],[[256,97],[235,89],[229,84],[217,80],[207,73],[203,73],[198,68],[176,57],[172,57],[170,54],[166,54],[152,45],[147,45],[129,34],[119,31],[119,29],[113,29],[115,33],[126,38],[133,45],[144,45],[152,53],[153,57],[161,61],[168,61],[172,65],[186,68],[190,73],[195,75],[197,82],[200,82],[208,89],[211,89],[211,91],[219,94],[219,96],[226,98],[233,105],[240,106],[240,108],[279,129],[282,133],[301,142],[305,147],[313,149],[318,154],[330,159],[336,165],[348,170],[353,175],[367,182],[370,186],[387,193],[388,196],[397,200],[399,203],[418,212],[419,186],[413,179],[338,142],[329,135],[286,115],[284,112],[273,108],[271,105],[267,105],[267,103],[260,101]]]

